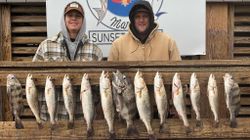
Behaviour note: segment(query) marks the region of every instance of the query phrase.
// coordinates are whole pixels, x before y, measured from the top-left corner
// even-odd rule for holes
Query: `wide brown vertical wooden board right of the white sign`
[[[206,58],[231,59],[228,3],[207,3]]]

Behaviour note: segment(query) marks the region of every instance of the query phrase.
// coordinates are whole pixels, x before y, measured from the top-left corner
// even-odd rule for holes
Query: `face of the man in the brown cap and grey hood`
[[[65,25],[70,33],[78,33],[83,24],[83,17],[77,11],[69,11],[65,15]]]

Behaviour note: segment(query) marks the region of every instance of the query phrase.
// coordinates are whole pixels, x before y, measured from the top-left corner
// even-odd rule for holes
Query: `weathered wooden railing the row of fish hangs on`
[[[6,121],[12,121],[11,112],[8,108],[8,100],[6,98],[6,76],[8,74],[15,74],[17,78],[21,81],[22,85],[25,86],[25,79],[28,73],[32,73],[35,78],[36,85],[43,87],[45,85],[45,78],[47,75],[51,75],[55,80],[55,84],[60,86],[62,84],[62,79],[64,74],[69,74],[73,79],[73,84],[79,86],[81,83],[81,78],[84,73],[89,73],[91,79],[91,85],[96,87],[99,85],[99,76],[102,70],[111,72],[119,69],[125,73],[131,80],[138,69],[140,69],[143,74],[145,81],[149,87],[151,94],[151,101],[153,106],[155,106],[152,85],[153,77],[157,71],[163,74],[163,79],[165,87],[168,91],[168,100],[170,102],[170,110],[174,110],[172,106],[171,99],[171,82],[174,73],[178,72],[181,75],[182,84],[189,84],[190,76],[193,72],[196,72],[198,75],[198,80],[201,86],[201,117],[204,119],[204,129],[197,130],[194,129],[194,133],[190,136],[186,136],[182,130],[182,123],[180,120],[176,120],[175,112],[170,111],[169,122],[166,124],[171,129],[171,134],[160,135],[157,133],[159,138],[240,138],[250,137],[248,136],[250,129],[248,128],[248,117],[250,116],[250,96],[249,96],[249,85],[250,85],[250,61],[239,61],[239,60],[224,60],[224,61],[181,61],[181,62],[63,62],[63,63],[43,63],[43,62],[0,62],[0,87],[2,93],[0,94],[0,99],[2,99],[2,107],[0,108],[3,113],[3,119]],[[239,119],[239,127],[236,129],[231,129],[228,126],[228,111],[225,105],[224,98],[224,86],[223,86],[223,75],[225,73],[231,73],[234,76],[236,82],[240,84],[241,89],[241,111]],[[212,112],[208,104],[208,99],[206,96],[207,93],[207,82],[210,73],[214,73],[217,80],[217,86],[219,89],[219,100],[220,100],[220,118],[221,125],[220,128],[212,128]],[[150,88],[151,87],[151,88]],[[97,88],[97,87],[96,87]],[[99,91],[97,89],[97,91]],[[98,94],[98,93],[96,93]],[[190,106],[190,99],[186,97],[186,104],[188,109],[189,120],[193,122],[195,115]],[[0,104],[1,105],[1,104]],[[26,104],[27,105],[27,104]],[[28,107],[26,107],[26,116],[33,116]],[[158,129],[158,118],[157,110],[153,107],[154,112],[154,121],[153,127],[155,131]],[[94,121],[96,127],[97,135],[94,138],[107,138],[107,126],[106,122],[103,120],[102,110],[100,104],[97,105],[97,119]],[[241,118],[247,117],[247,118]],[[32,119],[31,119],[32,120]],[[29,120],[25,121],[25,130],[15,130],[13,122],[2,122],[0,128],[5,128],[5,130],[0,130],[0,132],[5,131],[8,133],[2,133],[2,138],[69,138],[70,135],[73,135],[72,138],[85,138],[85,123],[76,122],[76,128],[74,130],[67,130],[65,122],[59,122],[60,128],[56,131],[51,131],[49,124],[46,123],[45,129],[37,133],[35,121],[30,122]],[[34,120],[34,119],[33,119]],[[105,125],[104,125],[105,124]],[[144,125],[140,121],[136,121],[136,124],[139,128],[140,137],[138,138],[147,138],[146,130]],[[116,128],[119,128],[118,135],[119,138],[127,138],[125,136],[125,124],[116,123]],[[157,129],[156,129],[157,128]],[[78,131],[79,130],[79,131]],[[81,131],[80,131],[81,130]],[[177,131],[178,130],[178,131]],[[243,131],[244,130],[244,131]],[[124,132],[123,132],[124,131]],[[63,133],[62,133],[63,132]],[[46,136],[44,135],[46,134]],[[205,134],[205,135],[204,135]],[[233,135],[231,135],[233,134]],[[71,136],[70,136],[71,137]],[[0,135],[1,139],[1,135]]]

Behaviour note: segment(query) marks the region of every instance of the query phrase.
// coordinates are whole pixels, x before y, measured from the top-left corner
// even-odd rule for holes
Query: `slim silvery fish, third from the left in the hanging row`
[[[45,100],[50,116],[51,129],[54,130],[56,127],[55,122],[55,111],[56,111],[56,93],[55,85],[52,81],[51,76],[47,76],[45,83]]]

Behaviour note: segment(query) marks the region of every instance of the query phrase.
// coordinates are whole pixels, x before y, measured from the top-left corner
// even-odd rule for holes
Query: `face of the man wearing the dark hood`
[[[139,12],[135,15],[135,28],[139,33],[144,33],[149,27],[149,15],[145,12]]]

